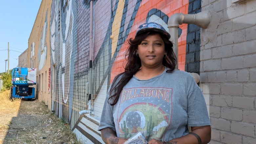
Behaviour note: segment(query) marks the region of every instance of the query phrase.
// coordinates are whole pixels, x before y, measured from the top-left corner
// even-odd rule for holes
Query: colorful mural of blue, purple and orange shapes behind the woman
[[[174,13],[187,14],[190,8],[192,9],[188,0],[109,0],[104,4],[98,0],[93,1],[92,100],[93,107],[97,108],[95,116],[101,115],[104,96],[114,76],[123,71],[126,41],[134,37],[138,26],[145,22],[157,22],[168,31],[168,18]],[[90,61],[89,14],[90,1],[52,2],[51,73],[53,65],[56,69],[56,74],[51,75],[51,79],[55,78],[56,81],[51,83],[51,91],[55,92],[52,103],[55,114],[66,119],[73,130],[78,129],[78,112],[87,109],[88,102],[86,83],[89,81]],[[187,24],[182,24],[178,30],[178,64],[179,69],[183,71],[188,69],[188,28]],[[41,50],[47,51],[47,46]],[[44,55],[40,57],[41,65],[44,62]],[[83,135],[88,133],[81,129],[79,131]],[[95,141],[98,142],[96,139]]]

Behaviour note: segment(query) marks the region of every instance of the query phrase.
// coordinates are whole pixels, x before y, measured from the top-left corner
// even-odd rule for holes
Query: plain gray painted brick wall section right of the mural
[[[256,143],[256,1],[202,0],[200,87],[209,95],[211,144]]]

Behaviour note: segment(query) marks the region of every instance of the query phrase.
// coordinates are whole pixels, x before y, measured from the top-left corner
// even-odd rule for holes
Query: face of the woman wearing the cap
[[[142,68],[157,68],[162,65],[165,54],[164,42],[159,34],[149,35],[138,45],[137,52]]]

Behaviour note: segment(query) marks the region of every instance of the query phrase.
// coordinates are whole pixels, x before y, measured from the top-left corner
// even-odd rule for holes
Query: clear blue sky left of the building
[[[18,57],[28,48],[41,0],[0,0],[0,73],[18,66]]]

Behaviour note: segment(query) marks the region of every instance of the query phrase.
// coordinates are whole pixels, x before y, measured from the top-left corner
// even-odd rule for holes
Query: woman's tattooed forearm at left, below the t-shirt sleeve
[[[126,139],[118,138],[117,133],[110,129],[105,128],[100,130],[101,138],[106,144],[122,144],[126,141]]]

